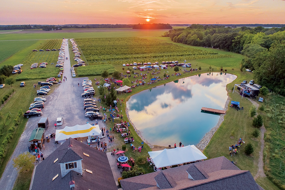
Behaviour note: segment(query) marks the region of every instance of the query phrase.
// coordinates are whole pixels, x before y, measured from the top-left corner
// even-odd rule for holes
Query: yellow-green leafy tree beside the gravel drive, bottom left
[[[21,153],[18,157],[13,159],[13,166],[17,168],[18,172],[20,171],[29,171],[34,163],[34,156],[28,152]]]

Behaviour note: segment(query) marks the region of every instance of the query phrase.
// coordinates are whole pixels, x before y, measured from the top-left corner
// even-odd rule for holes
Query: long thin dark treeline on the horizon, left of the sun
[[[88,24],[88,25],[1,25],[0,30],[28,30],[28,29],[43,29],[49,30],[62,30],[62,29],[104,29],[104,28],[132,28],[133,24]]]

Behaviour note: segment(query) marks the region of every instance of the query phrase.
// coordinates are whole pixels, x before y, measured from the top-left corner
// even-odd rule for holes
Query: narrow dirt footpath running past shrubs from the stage
[[[252,102],[253,105],[255,105],[258,109],[259,104],[257,102],[252,101],[251,99],[248,99],[249,101]],[[266,129],[264,127],[264,124],[262,124],[262,127],[260,127],[261,134],[260,134],[260,151],[259,151],[259,159],[258,159],[258,171],[257,174],[254,176],[254,180],[256,180],[258,177],[266,177],[263,167],[264,167],[264,162],[263,162],[263,150],[264,150],[264,134],[266,132]]]

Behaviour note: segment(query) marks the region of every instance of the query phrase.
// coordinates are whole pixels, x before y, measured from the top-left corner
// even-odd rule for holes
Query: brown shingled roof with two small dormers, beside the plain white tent
[[[216,190],[231,189],[233,185],[235,189],[262,189],[249,171],[238,169],[224,156],[123,179],[120,183],[123,190]]]

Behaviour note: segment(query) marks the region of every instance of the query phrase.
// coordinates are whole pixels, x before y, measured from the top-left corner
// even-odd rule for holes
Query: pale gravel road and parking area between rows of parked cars
[[[67,42],[67,39],[66,39]],[[81,94],[83,93],[82,80],[87,78],[72,78],[71,76],[71,66],[70,66],[70,57],[73,58],[74,55],[69,56],[68,45],[65,49],[65,57],[68,57],[68,60],[64,60],[64,76],[66,76],[67,81],[57,85],[51,86],[51,88],[56,88],[52,94],[46,96],[47,101],[45,102],[45,107],[43,108],[42,117],[48,117],[49,127],[45,132],[46,134],[55,133],[56,129],[54,123],[56,118],[63,117],[63,125],[58,126],[57,129],[63,129],[65,126],[74,126],[74,125],[83,125],[89,121],[85,117],[83,109],[83,98]],[[79,87],[78,87],[79,83]],[[35,90],[36,94],[36,90]],[[28,107],[28,106],[27,106]],[[23,110],[26,111],[26,110]],[[26,128],[21,135],[18,145],[15,148],[14,153],[10,161],[7,163],[7,166],[4,170],[4,173],[0,179],[1,190],[11,190],[14,186],[16,178],[18,176],[18,171],[13,167],[12,158],[17,157],[19,154],[28,151],[29,138],[31,137],[31,132],[33,129],[37,128],[37,123],[40,120],[40,117],[29,118],[29,121],[26,124]],[[104,126],[102,120],[98,120],[100,128]],[[45,150],[42,150],[44,157],[46,158],[50,153],[52,153],[59,145],[54,143],[54,139],[47,143],[44,141]],[[45,172],[45,171],[42,171]],[[40,183],[39,183],[40,185]]]

